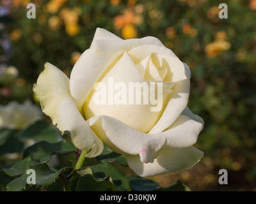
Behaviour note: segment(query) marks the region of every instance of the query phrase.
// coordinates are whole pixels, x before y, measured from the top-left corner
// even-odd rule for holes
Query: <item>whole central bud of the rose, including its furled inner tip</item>
[[[86,99],[86,119],[108,115],[128,126],[148,133],[163,114],[172,90],[164,78],[167,68],[152,53],[134,64],[127,52],[112,63],[99,78]]]

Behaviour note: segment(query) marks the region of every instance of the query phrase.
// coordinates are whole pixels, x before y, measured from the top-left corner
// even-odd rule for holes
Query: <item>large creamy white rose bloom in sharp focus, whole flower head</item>
[[[163,91],[157,98],[161,108],[152,111],[156,105],[151,103],[99,104],[96,84],[101,82],[109,90],[109,78],[126,87],[131,82],[161,82],[150,89],[151,94],[159,86]],[[98,156],[105,144],[124,154],[135,173],[148,177],[191,168],[203,157],[193,147],[204,120],[187,106],[189,78],[188,65],[157,38],[122,40],[97,28],[91,47],[74,65],[70,79],[47,62],[33,91],[53,124],[63,132],[70,131],[77,149],[90,149],[86,157]],[[129,94],[127,100],[134,96]],[[141,92],[141,98],[144,94]],[[109,94],[106,96],[108,102]]]

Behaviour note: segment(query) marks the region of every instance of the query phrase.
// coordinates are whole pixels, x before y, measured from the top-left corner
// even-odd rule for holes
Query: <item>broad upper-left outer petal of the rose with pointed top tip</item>
[[[98,34],[100,32],[100,34]],[[102,33],[103,36],[102,36]],[[163,46],[161,41],[154,37],[129,40],[113,40],[113,34],[97,29],[92,46],[86,50],[74,65],[70,75],[70,91],[79,111],[93,85],[99,80],[104,71],[115,63],[125,51],[141,45]],[[110,37],[109,37],[110,36]],[[104,40],[99,40],[104,39]],[[110,40],[106,40],[106,38]],[[117,37],[116,37],[117,38]]]

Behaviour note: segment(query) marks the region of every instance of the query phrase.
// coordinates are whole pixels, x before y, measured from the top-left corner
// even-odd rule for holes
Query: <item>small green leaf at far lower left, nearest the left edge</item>
[[[28,166],[33,166],[35,164],[40,164],[38,161],[35,161],[32,157],[28,156],[25,159],[17,161],[13,164],[4,168],[3,171],[10,177],[15,177],[21,175],[28,168]]]

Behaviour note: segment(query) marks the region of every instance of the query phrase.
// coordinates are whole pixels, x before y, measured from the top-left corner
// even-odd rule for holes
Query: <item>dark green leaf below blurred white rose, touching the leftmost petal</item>
[[[53,126],[41,120],[20,131],[17,136],[22,140],[33,139],[36,142],[41,140],[47,142],[58,142],[57,132]]]

